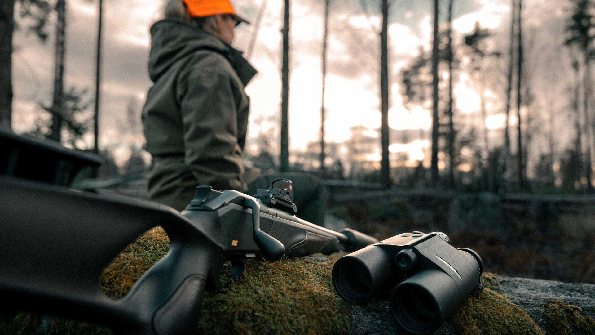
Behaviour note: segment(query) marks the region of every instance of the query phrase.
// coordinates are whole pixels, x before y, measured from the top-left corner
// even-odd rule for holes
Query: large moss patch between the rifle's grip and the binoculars
[[[249,261],[226,293],[205,294],[198,333],[349,334],[350,305],[331,283],[335,260]]]

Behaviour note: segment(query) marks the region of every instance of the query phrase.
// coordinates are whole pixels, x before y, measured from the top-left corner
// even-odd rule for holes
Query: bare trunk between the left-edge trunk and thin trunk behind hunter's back
[[[62,115],[64,95],[64,54],[66,40],[66,1],[58,0],[56,4],[58,21],[56,25],[56,49],[54,66],[54,98],[52,100],[52,132],[49,138],[61,141]]]

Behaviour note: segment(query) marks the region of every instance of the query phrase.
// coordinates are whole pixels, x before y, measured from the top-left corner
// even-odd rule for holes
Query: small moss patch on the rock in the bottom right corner
[[[541,303],[541,309],[547,321],[547,334],[571,335],[573,331],[595,334],[595,320],[576,305],[566,305],[562,300],[555,299]]]

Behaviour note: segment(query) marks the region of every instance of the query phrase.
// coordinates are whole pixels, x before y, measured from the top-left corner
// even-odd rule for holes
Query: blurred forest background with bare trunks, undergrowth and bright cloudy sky
[[[148,45],[102,35],[118,5],[102,2],[2,2],[0,125],[100,154],[87,185],[142,196],[148,82],[114,85],[132,77],[114,64],[145,71]],[[246,88],[246,165],[321,176],[328,213],[377,238],[447,231],[489,271],[593,283],[595,1],[237,2],[253,17],[239,47],[261,71]],[[97,24],[85,45],[67,29],[81,8]],[[92,60],[86,79],[68,74],[82,68],[67,46]]]

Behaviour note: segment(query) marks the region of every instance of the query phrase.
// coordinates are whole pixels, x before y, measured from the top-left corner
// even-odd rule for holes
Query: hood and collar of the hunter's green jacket
[[[172,64],[203,49],[218,52],[226,57],[244,86],[256,75],[256,69],[242,56],[241,51],[190,23],[166,18],[155,22],[150,32],[149,78],[153,82]]]

